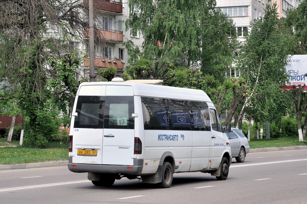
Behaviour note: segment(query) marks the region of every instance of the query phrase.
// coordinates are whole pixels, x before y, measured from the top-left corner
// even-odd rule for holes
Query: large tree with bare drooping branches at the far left
[[[6,80],[10,87],[4,93],[8,98],[6,105],[12,106],[12,109],[16,106],[24,111],[25,141],[43,144],[47,135],[56,132],[57,124],[53,122],[58,117],[58,112],[54,104],[59,103],[54,100],[57,100],[58,95],[57,92],[49,90],[47,83],[51,75],[56,76],[54,72],[60,73],[64,70],[52,72],[46,62],[49,57],[53,57],[55,61],[65,59],[65,56],[73,51],[76,51],[77,56],[84,55],[76,49],[76,42],[83,41],[84,32],[88,28],[88,9],[84,7],[85,4],[82,0],[0,2],[0,80]],[[95,28],[102,27],[98,23],[96,19]],[[95,36],[98,35],[98,30],[95,29]],[[96,42],[104,44],[99,39],[97,38]],[[68,68],[69,66],[66,66],[65,70]],[[61,77],[59,75],[57,77]],[[68,72],[65,75],[61,83],[67,86],[71,94],[74,88],[69,87],[72,84],[67,82],[76,79],[68,79],[74,77]],[[67,99],[65,103],[69,104],[72,97],[71,94],[70,99],[61,100],[63,102]],[[13,114],[12,112],[11,115]]]

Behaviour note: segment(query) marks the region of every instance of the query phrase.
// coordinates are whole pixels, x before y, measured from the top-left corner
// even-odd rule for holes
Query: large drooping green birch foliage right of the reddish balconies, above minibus
[[[142,78],[146,73],[149,75],[145,78],[165,77],[172,85],[177,71],[182,74],[184,69],[193,68],[194,76],[203,74],[196,78],[214,76],[223,83],[223,73],[231,66],[237,43],[232,20],[215,6],[213,0],[130,1],[126,30],[130,28],[132,35],[139,32],[144,38],[142,50],[134,48],[132,42],[125,44],[130,56],[127,68],[131,70],[130,75]],[[148,64],[133,68],[139,60]],[[138,70],[142,72],[137,73]]]

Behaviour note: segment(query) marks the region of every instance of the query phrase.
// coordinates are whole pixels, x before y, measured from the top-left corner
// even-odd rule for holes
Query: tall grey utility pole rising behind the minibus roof
[[[90,57],[90,82],[95,81],[95,69],[94,69],[94,12],[93,12],[93,0],[88,1],[89,11],[89,57]]]

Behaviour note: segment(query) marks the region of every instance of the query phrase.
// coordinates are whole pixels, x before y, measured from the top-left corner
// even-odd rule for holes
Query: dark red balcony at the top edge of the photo
[[[88,7],[88,0],[84,0],[83,4],[85,7]],[[116,2],[116,0],[115,1],[93,0],[93,7],[105,11],[122,13],[122,2]]]

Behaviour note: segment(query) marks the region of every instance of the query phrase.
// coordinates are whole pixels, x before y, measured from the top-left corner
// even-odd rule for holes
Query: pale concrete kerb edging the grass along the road
[[[259,148],[251,149],[251,152],[269,152],[269,151],[280,151],[280,150],[301,150],[307,149],[307,146],[294,146],[294,147],[268,147],[268,148]],[[68,161],[49,161],[41,163],[29,163],[29,164],[11,164],[11,165],[0,165],[0,170],[8,169],[30,169],[38,167],[51,167],[51,166],[65,166],[68,164]]]

